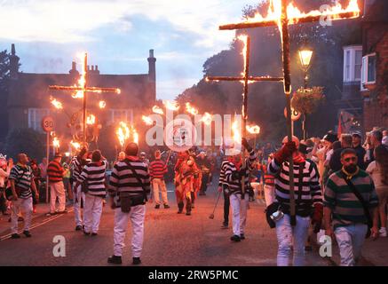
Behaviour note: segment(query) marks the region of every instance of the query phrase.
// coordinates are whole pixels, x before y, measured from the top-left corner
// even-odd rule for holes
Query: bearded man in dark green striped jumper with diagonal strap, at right
[[[378,236],[378,198],[375,185],[368,173],[358,167],[357,159],[354,149],[344,149],[341,153],[342,170],[332,174],[325,186],[325,233],[337,240],[341,266],[356,264],[368,225],[371,226],[372,235]],[[360,194],[365,209],[353,191]]]

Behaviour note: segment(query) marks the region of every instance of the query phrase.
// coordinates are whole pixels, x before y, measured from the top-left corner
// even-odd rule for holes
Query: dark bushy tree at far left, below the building
[[[4,154],[16,157],[25,153],[40,161],[45,155],[45,135],[32,129],[16,129],[10,131],[5,138]]]

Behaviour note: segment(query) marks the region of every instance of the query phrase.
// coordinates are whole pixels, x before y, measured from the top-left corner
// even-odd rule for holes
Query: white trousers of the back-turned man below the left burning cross
[[[85,194],[85,206],[83,208],[83,224],[85,225],[84,232],[98,233],[99,220],[102,214],[103,198],[91,194]]]

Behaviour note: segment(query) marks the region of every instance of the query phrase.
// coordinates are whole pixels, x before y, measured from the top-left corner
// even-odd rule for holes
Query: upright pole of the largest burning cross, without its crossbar
[[[289,20],[287,18],[287,0],[281,0],[281,45],[283,59],[284,93],[286,95],[287,109],[287,136],[289,142],[292,141],[292,121],[291,121],[291,72],[289,53]],[[297,225],[294,191],[294,160],[289,157],[289,211],[291,225]]]

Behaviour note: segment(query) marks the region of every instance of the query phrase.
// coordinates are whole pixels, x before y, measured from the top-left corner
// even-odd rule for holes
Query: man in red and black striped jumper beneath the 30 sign
[[[47,175],[49,176],[49,185],[51,189],[49,215],[66,212],[66,193],[65,185],[63,185],[63,176],[65,174],[65,170],[60,164],[60,160],[62,160],[62,154],[55,154],[54,160],[52,160],[47,166]],[[58,209],[55,209],[57,197],[59,206]]]

